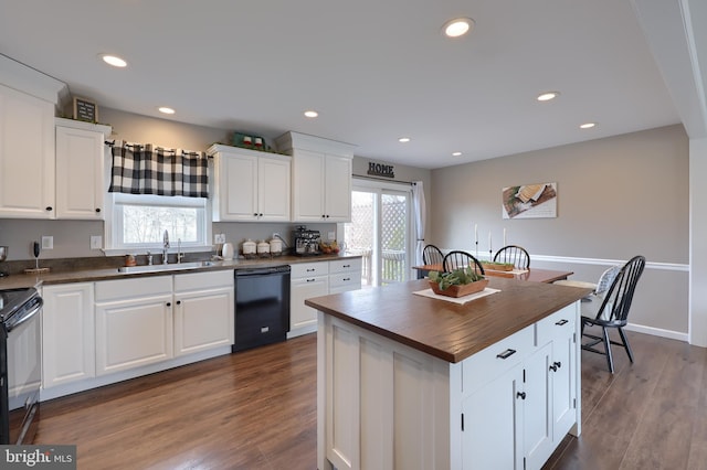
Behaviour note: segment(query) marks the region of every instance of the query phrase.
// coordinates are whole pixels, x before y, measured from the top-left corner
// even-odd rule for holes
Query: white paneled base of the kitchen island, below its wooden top
[[[540,469],[581,432],[579,302],[460,363],[318,313],[318,468]]]

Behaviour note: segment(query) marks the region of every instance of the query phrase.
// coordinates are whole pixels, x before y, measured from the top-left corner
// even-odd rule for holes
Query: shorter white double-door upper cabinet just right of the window
[[[214,222],[289,222],[292,158],[214,145]]]

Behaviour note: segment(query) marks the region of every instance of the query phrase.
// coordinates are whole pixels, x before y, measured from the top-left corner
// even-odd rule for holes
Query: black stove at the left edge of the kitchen
[[[34,288],[0,290],[0,444],[32,444],[40,418],[41,310]]]

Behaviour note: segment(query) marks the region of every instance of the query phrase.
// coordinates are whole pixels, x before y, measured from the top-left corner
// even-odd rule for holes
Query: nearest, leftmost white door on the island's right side
[[[477,388],[462,402],[462,468],[523,466],[523,364]]]

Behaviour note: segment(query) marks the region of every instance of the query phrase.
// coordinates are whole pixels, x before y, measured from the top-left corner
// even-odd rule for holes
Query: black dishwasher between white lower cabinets
[[[287,339],[289,266],[235,269],[235,342],[243,351]]]

